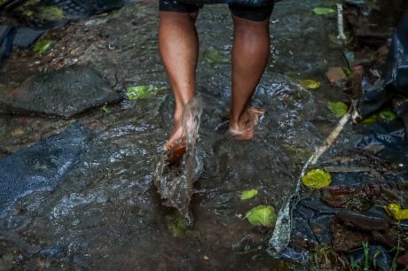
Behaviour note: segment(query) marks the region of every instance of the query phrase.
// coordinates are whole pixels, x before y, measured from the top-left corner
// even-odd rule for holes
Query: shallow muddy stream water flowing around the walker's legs
[[[255,107],[266,113],[255,139],[244,143],[225,136],[231,67],[208,64],[202,58],[206,50],[231,50],[231,16],[223,5],[201,11],[197,22],[201,56],[197,90],[205,107],[198,145],[205,167],[196,185],[199,192],[192,197],[194,224],[177,236],[169,229],[167,218],[172,213],[161,205],[152,184],[153,168],[171,128],[174,102],[170,95],[125,101],[111,106],[109,113],[99,109],[75,120],[2,116],[3,156],[55,134],[73,121],[94,133],[88,149],[56,190],[20,199],[2,219],[0,233],[8,236],[8,241],[0,241],[0,249],[7,259],[12,259],[5,267],[290,267],[264,252],[271,232],[252,227],[243,215],[260,204],[278,209],[302,163],[337,121],[326,109],[326,102],[341,99],[341,90],[330,87],[324,79],[327,67],[343,66],[340,50],[328,39],[335,33],[335,19],[311,12],[313,7],[326,3],[285,0],[276,5],[271,19],[270,64],[254,98]],[[107,17],[66,27],[66,31],[74,29],[69,33],[75,37],[66,47],[86,45],[82,44],[82,53],[67,62],[95,66],[111,82],[116,78],[116,87],[167,85],[157,50],[156,10],[154,1],[136,2]],[[3,67],[2,78],[10,84],[4,83],[2,88],[19,81],[19,76],[23,78],[52,64],[47,57],[16,54],[20,58],[10,58]],[[30,68],[24,69],[27,63]],[[297,83],[302,78],[323,81],[322,88],[303,89]],[[346,133],[354,135],[354,128],[346,129]],[[258,196],[240,201],[240,191],[247,189],[259,190]],[[33,255],[33,250],[38,253]]]

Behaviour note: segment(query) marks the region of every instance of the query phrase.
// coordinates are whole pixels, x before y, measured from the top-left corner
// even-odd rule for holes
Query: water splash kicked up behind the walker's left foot
[[[184,107],[182,123],[185,135],[185,153],[174,161],[169,159],[172,154],[166,151],[161,154],[157,163],[153,183],[161,194],[163,205],[174,207],[192,224],[190,201],[192,183],[200,178],[203,163],[197,150],[199,138],[202,102],[194,98]]]

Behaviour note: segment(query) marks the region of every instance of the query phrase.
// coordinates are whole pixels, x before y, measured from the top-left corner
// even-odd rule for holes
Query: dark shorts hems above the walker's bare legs
[[[200,4],[181,4],[174,0],[159,0],[159,10],[161,12],[198,12],[202,5]],[[252,7],[237,4],[229,4],[231,13],[242,19],[254,21],[263,21],[271,17],[273,4],[266,7]]]

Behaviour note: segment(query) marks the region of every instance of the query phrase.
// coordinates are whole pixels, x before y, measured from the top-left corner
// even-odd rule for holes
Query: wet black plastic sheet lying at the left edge
[[[0,214],[19,197],[55,188],[86,149],[89,138],[87,129],[75,125],[57,136],[1,159]]]

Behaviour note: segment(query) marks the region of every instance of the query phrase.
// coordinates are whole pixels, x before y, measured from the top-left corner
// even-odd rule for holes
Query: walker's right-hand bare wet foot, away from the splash
[[[228,133],[238,141],[250,140],[254,137],[255,126],[258,124],[262,110],[250,108],[244,113],[238,123],[231,123]]]

